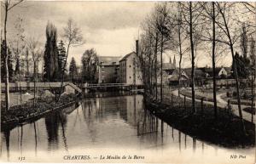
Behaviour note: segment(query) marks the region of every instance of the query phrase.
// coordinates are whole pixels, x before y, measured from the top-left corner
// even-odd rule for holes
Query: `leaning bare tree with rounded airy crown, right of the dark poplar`
[[[65,26],[63,28],[63,30],[64,30],[64,34],[62,37],[67,42],[67,55],[66,55],[66,59],[64,61],[64,66],[63,66],[64,69],[62,69],[62,72],[61,72],[62,73],[61,74],[61,92],[62,92],[62,87],[63,87],[64,74],[65,74],[65,68],[67,65],[67,57],[68,57],[68,53],[69,53],[69,48],[72,46],[79,46],[84,43],[82,32],[80,31],[78,25],[72,19],[67,20],[67,26]],[[61,97],[61,92],[59,94],[57,101]]]

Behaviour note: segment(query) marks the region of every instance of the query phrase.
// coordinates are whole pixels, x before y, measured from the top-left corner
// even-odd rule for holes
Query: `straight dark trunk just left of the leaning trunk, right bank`
[[[217,119],[217,99],[216,99],[216,76],[215,76],[215,3],[212,2],[212,71],[213,71],[213,104],[214,118]]]

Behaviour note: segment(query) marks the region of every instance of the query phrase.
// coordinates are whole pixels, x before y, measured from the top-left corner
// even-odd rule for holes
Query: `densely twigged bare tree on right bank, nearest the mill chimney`
[[[151,14],[148,15],[147,19],[143,24],[143,34],[141,35],[140,41],[140,55],[139,62],[141,67],[145,71],[154,77],[143,76],[146,86],[150,86],[151,83],[154,86],[148,88],[149,93],[154,93],[155,99],[158,99],[158,69],[159,62],[158,57],[160,54],[160,99],[162,99],[162,55],[168,48],[168,42],[170,41],[170,27],[168,27],[168,22],[170,22],[170,10],[167,6],[167,3],[157,3],[154,7],[154,10]],[[141,70],[143,71],[141,68]]]

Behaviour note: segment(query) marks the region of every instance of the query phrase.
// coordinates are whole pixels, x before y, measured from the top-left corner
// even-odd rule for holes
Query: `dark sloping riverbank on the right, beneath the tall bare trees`
[[[247,135],[241,131],[240,118],[230,111],[218,107],[218,119],[214,119],[212,105],[195,102],[197,111],[192,113],[190,100],[177,96],[165,97],[162,103],[154,99],[145,99],[146,108],[177,130],[187,133],[195,139],[218,144],[228,148],[253,147],[255,145],[255,125],[244,120]]]

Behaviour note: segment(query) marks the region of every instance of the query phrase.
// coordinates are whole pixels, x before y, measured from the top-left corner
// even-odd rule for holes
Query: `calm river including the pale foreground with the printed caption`
[[[1,161],[253,163],[255,155],[179,132],[145,110],[142,95],[84,99],[1,137]]]

